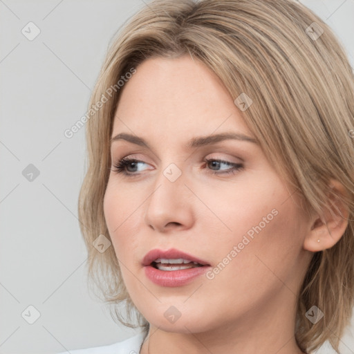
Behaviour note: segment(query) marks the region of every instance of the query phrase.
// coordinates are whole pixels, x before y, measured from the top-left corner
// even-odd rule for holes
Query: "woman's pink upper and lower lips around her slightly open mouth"
[[[198,262],[203,265],[203,267],[182,269],[182,270],[158,270],[154,268],[151,263],[158,258],[165,259],[189,259],[189,261]],[[142,261],[142,264],[145,265],[145,275],[149,278],[153,283],[158,286],[183,286],[199,275],[205,273],[210,265],[203,261],[202,259],[198,259],[191,254],[187,254],[185,252],[181,252],[174,248],[171,248],[167,251],[163,250],[151,250],[147,253]]]

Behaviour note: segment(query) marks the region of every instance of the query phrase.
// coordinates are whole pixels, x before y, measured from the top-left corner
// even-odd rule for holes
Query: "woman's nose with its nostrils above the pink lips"
[[[153,192],[147,200],[145,223],[151,229],[166,233],[169,230],[187,230],[194,220],[194,196],[185,185],[182,173],[176,180],[162,170]]]

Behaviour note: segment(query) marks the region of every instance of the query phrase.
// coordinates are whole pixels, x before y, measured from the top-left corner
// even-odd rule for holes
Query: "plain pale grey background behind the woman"
[[[335,30],[354,65],[354,0],[302,2]],[[136,333],[88,294],[77,221],[84,129],[71,139],[64,131],[86,113],[113,35],[144,6],[0,0],[0,354],[59,353]],[[21,32],[30,21],[41,31],[32,41]],[[30,164],[39,171],[32,181],[23,175]],[[30,305],[40,313],[33,324],[21,315]],[[344,354],[354,353],[353,325],[341,342]]]

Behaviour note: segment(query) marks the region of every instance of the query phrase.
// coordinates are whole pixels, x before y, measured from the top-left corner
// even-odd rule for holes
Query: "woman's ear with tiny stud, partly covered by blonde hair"
[[[310,252],[319,252],[331,248],[343,236],[348,226],[348,205],[333,194],[333,191],[335,191],[342,198],[345,198],[345,188],[337,180],[330,180],[330,188],[331,192],[327,199],[328,207],[323,210],[321,216],[318,214],[313,216],[304,239],[304,249]]]

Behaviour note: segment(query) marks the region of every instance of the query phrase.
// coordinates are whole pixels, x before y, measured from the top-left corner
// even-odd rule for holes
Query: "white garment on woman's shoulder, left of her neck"
[[[122,342],[110,344],[108,346],[95,346],[93,348],[75,349],[59,354],[139,354],[140,346],[145,338],[144,333],[139,333]]]

